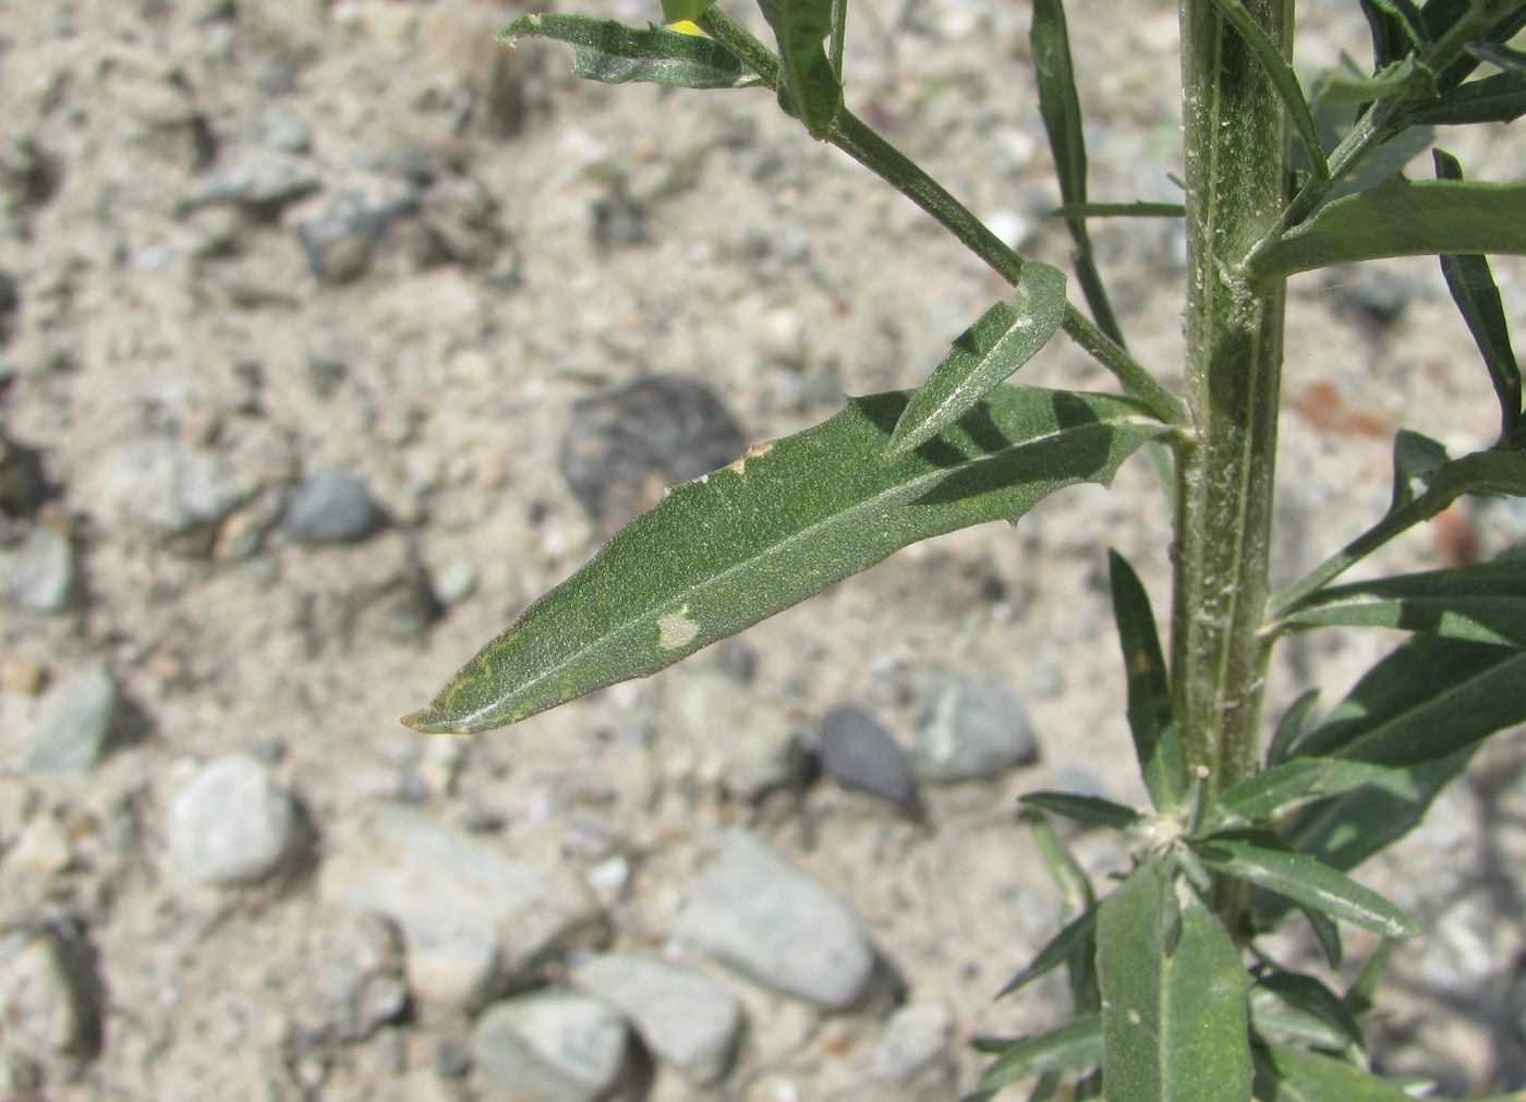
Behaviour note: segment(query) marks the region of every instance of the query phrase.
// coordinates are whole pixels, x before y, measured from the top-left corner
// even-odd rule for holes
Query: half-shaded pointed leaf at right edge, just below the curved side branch
[[[1398,627],[1526,647],[1526,554],[1329,586],[1283,621],[1303,627]]]

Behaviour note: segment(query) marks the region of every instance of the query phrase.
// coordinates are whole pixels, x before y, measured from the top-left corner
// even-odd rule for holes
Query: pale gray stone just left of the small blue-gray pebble
[[[116,447],[101,469],[118,520],[166,537],[204,531],[208,546],[217,524],[250,496],[223,453],[169,437]]]

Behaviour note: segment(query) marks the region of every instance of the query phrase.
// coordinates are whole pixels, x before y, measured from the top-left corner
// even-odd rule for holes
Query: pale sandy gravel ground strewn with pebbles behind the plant
[[[1093,195],[1170,198],[1173,9],[1117,35],[1116,6],[1070,8]],[[559,47],[493,46],[522,11],[0,0],[0,1097],[931,1100],[972,1082],[971,1036],[1065,1013],[1058,984],[992,1003],[1059,905],[1013,801],[1143,798],[1105,553],[1163,603],[1144,462],[517,728],[397,723],[694,461],[627,456],[580,501],[563,441],[591,398],[678,379],[719,403],[694,398],[710,444],[771,440],[916,385],[1001,296],[766,95],[581,84]],[[855,11],[850,104],[1064,264],[1027,8]],[[1300,34],[1309,69],[1367,47],[1354,3]],[[1447,139],[1520,179],[1503,134]],[[1097,246],[1172,377],[1180,230]],[[1523,331],[1526,269],[1497,276]],[[1300,278],[1293,314],[1289,575],[1386,507],[1399,424],[1466,447],[1494,423],[1433,263]],[[1062,340],[1025,372],[1109,388]],[[1381,565],[1468,540],[1526,542],[1526,517],[1459,510]],[[1392,643],[1300,638],[1274,707],[1334,702]],[[874,734],[829,740],[925,778],[937,722],[977,737],[969,699],[1021,736],[981,780],[913,803],[903,777],[801,774],[850,707],[829,730]],[[1523,823],[1505,737],[1375,862],[1427,930],[1386,1068],[1526,1085]],[[1128,861],[1073,841],[1099,876]],[[760,933],[795,930],[841,940]]]

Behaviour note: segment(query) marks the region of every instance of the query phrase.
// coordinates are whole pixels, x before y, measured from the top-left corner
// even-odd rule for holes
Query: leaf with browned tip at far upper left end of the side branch
[[[520,15],[497,37],[551,38],[572,47],[572,72],[603,84],[667,84],[679,89],[740,89],[758,79],[720,43],[667,27],[638,31],[586,15]]]

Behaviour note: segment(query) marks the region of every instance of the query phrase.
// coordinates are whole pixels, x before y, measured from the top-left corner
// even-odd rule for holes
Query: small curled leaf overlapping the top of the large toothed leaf
[[[896,423],[887,455],[905,455],[957,421],[1033,359],[1065,321],[1065,273],[1029,261],[1015,304],[996,302],[954,342]]]

